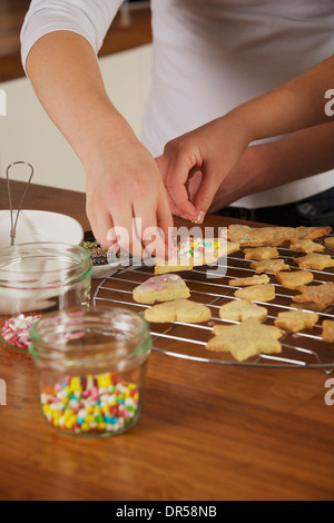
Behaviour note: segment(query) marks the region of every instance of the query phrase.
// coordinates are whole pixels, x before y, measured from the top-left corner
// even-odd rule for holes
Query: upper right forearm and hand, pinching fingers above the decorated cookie
[[[324,109],[333,71],[334,57],[331,57],[279,88],[167,144],[160,169],[173,200],[173,211],[203,221],[220,184],[250,142],[332,121],[333,117]],[[185,186],[195,167],[202,171],[202,181],[190,203]],[[298,178],[288,181],[293,179]],[[266,180],[262,182],[258,190],[265,190]],[[246,191],[245,187],[239,197],[249,194]]]

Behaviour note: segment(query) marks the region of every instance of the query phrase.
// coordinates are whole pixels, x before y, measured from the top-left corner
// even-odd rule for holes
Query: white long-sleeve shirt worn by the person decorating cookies
[[[57,30],[81,34],[98,52],[121,3],[32,0],[21,32],[23,66],[37,40]],[[151,0],[151,10],[153,81],[141,139],[154,156],[170,139],[274,89],[334,52],[331,0]],[[333,186],[331,170],[234,205],[283,205]]]

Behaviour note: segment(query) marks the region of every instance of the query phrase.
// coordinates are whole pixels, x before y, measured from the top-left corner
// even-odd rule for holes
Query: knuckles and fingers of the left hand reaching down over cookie
[[[106,249],[119,248],[137,258],[168,257],[173,215],[158,170],[132,182],[99,185],[90,194],[87,215],[96,239]],[[115,181],[115,180],[114,180]],[[104,190],[100,190],[100,189]]]

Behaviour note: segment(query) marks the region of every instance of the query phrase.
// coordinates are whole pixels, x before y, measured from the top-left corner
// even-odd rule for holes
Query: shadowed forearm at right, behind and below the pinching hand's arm
[[[334,168],[334,122],[293,132],[279,140],[247,147],[218,188],[209,211],[239,198]],[[193,191],[198,189],[197,181]]]

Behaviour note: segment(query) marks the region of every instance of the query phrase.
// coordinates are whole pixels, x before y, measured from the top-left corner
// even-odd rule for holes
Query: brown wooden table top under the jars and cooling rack
[[[80,194],[35,186],[26,208],[66,213],[88,227]],[[8,405],[0,406],[1,500],[334,500],[334,405],[325,404],[328,376],[321,371],[153,353],[139,424],[96,441],[47,426],[28,356],[0,348],[0,377],[8,387]]]

